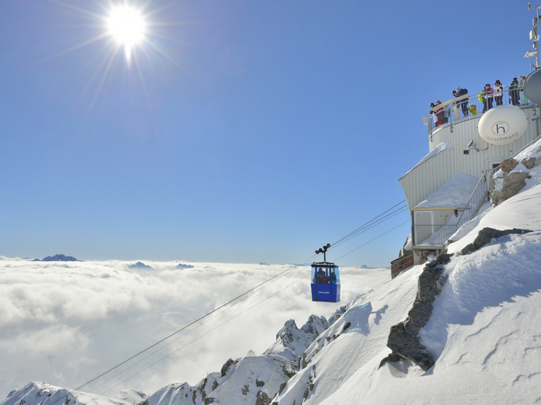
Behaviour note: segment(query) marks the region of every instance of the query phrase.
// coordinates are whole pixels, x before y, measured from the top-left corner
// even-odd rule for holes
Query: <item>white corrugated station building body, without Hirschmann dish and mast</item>
[[[432,109],[435,113],[423,119],[428,126],[429,153],[398,179],[412,218],[415,264],[422,263],[431,252],[438,253],[452,234],[478,213],[487,201],[495,169],[541,133],[540,109],[528,101],[515,106],[528,121],[523,135],[507,145],[485,142],[478,125],[483,107],[490,101],[483,101],[478,95],[454,98],[436,105]],[[499,107],[494,97],[492,101],[487,112]],[[467,103],[466,116],[457,102]],[[511,105],[509,89],[502,93],[502,105]]]

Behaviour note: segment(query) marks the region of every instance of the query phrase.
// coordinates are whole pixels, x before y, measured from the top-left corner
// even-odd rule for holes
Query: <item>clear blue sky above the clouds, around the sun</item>
[[[109,7],[0,6],[0,255],[298,263],[403,200],[430,102],[530,72],[535,16],[526,1],[154,0],[148,22],[173,24],[104,74],[110,38],[70,50]],[[388,266],[409,233],[339,264]]]

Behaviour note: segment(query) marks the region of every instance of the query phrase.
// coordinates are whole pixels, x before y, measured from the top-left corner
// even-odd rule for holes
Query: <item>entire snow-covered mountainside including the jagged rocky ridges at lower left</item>
[[[533,151],[541,147],[537,143]],[[541,166],[528,173],[519,194],[486,209],[452,237],[450,261],[443,268],[447,281],[419,333],[436,360],[429,371],[406,360],[382,363],[390,352],[391,326],[408,317],[416,299],[424,269],[415,266],[351,300],[330,321],[312,316],[301,328],[288,321],[263,355],[230,359],[194,386],[172,384],[148,397],[132,391],[97,400],[118,405],[541,403]],[[460,253],[486,227],[530,232]],[[53,405],[46,393],[54,390],[32,383],[0,405]],[[51,398],[61,394],[66,392]],[[90,405],[93,398],[69,395],[76,404]]]

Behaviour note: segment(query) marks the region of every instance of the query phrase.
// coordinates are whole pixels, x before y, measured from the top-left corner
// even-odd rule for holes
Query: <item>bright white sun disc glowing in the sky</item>
[[[110,35],[124,46],[129,59],[131,48],[145,37],[145,21],[141,12],[127,5],[113,7],[107,24]]]

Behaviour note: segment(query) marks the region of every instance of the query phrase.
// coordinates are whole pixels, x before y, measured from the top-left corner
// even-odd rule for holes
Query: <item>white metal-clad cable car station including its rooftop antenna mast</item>
[[[392,277],[437,255],[485,203],[490,180],[502,161],[515,157],[541,134],[540,8],[530,8],[537,17],[530,31],[534,49],[525,56],[530,58],[532,73],[523,92],[504,89],[501,105],[486,111],[483,107],[493,105],[495,98],[487,102],[481,95],[464,95],[436,105],[436,113],[423,119],[429,154],[398,179],[411,215],[411,248],[391,262]],[[522,98],[520,105],[516,105],[517,95]],[[461,116],[457,102],[467,102],[469,114]]]

